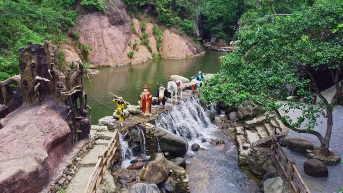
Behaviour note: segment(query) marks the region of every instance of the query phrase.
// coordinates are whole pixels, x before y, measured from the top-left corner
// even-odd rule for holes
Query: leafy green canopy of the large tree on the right
[[[320,105],[309,100],[280,104],[276,99],[287,96],[289,87],[297,88],[297,98],[312,98],[318,88],[310,75],[320,70],[339,74],[343,68],[342,15],[343,2],[337,0],[323,1],[291,16],[266,16],[255,22],[249,14],[242,20],[248,25],[242,23],[239,49],[222,59],[222,69],[206,83],[201,100],[239,106],[251,99],[266,110],[299,110],[302,114],[295,121],[288,116],[283,120],[293,128],[312,130],[316,118],[332,112],[334,104],[325,100]],[[303,74],[300,78],[299,73]]]

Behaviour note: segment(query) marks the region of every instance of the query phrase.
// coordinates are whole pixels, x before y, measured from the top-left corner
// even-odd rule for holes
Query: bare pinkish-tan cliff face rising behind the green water
[[[80,41],[92,47],[88,60],[96,66],[113,66],[152,59],[152,54],[158,52],[152,33],[153,24],[148,23],[145,28],[151,48],[149,51],[146,46],[140,45],[143,32],[139,21],[129,18],[122,2],[106,0],[104,6],[105,13],[86,14],[78,20],[77,31],[80,33]],[[134,43],[137,43],[137,48],[133,48]],[[163,34],[162,47],[161,56],[168,59],[181,59],[201,53],[201,49],[170,30],[165,30]],[[128,53],[131,50],[134,50],[135,54],[129,58]]]

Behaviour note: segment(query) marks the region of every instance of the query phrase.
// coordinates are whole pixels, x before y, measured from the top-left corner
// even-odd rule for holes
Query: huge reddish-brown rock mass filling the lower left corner
[[[49,97],[40,105],[22,106],[1,119],[1,192],[36,192],[56,174],[53,166],[74,146],[68,140],[65,112],[65,107]]]

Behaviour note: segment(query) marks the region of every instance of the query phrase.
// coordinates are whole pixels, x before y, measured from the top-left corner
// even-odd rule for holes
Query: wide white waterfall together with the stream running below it
[[[182,136],[189,143],[185,159],[192,193],[260,192],[257,183],[238,166],[234,141],[211,123],[197,99],[182,101],[167,114],[161,114],[156,126]],[[221,139],[225,144],[202,143],[202,137],[207,141]],[[203,149],[192,152],[193,143],[200,144]]]

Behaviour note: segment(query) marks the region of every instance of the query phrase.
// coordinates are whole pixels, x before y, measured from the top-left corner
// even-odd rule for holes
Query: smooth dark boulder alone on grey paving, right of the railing
[[[312,177],[327,177],[328,170],[326,165],[318,159],[308,159],[304,162],[304,171]]]

